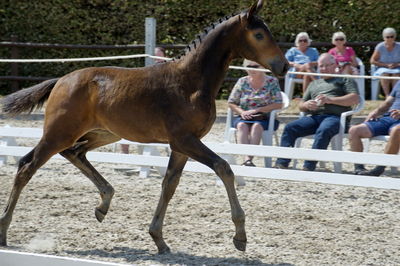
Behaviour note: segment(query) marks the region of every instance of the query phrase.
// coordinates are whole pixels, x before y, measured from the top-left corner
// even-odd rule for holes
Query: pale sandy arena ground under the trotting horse
[[[40,127],[42,121],[0,120],[5,124]],[[216,123],[204,140],[221,141],[223,128]],[[372,150],[381,152],[381,145]],[[1,211],[16,172],[10,161],[0,167]],[[246,178],[238,196],[248,245],[240,252],[232,244],[224,187],[216,185],[215,175],[185,172],[164,224],[172,253],[158,255],[147,231],[161,177],[152,171],[150,178],[139,178],[124,171],[127,165],[94,166],[116,191],[103,223],[94,217],[95,186],[68,162],[51,160],[22,192],[9,247],[1,249],[138,265],[400,265],[399,191]],[[396,176],[390,170],[385,175]]]

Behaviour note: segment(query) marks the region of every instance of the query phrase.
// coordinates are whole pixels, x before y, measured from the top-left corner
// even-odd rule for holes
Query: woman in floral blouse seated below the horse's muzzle
[[[262,68],[256,62],[245,59],[244,67]],[[268,129],[269,112],[282,108],[282,95],[279,82],[265,72],[248,70],[248,76],[240,78],[228,99],[229,108],[238,116],[233,125],[237,128],[238,142],[260,144],[264,130]],[[279,122],[275,121],[275,130]],[[255,166],[253,156],[246,156],[242,165]]]

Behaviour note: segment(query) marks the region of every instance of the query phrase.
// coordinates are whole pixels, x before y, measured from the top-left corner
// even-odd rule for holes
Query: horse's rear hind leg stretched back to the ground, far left
[[[4,213],[0,217],[0,246],[7,245],[7,230],[10,226],[12,215],[22,189],[35,174],[36,170],[47,162],[51,156],[57,153],[56,145],[49,143],[49,141],[42,139],[39,144],[27,155],[22,157],[19,162],[13,188],[8,198]]]

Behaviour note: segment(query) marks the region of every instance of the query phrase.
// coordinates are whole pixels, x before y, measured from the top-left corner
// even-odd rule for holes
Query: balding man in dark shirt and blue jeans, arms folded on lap
[[[318,59],[321,73],[334,74],[337,63],[328,53]],[[339,133],[340,115],[351,110],[351,106],[358,103],[357,84],[353,79],[326,77],[310,83],[299,109],[308,113],[288,123],[282,133],[281,146],[294,147],[299,137],[315,134],[313,149],[326,149],[333,136]],[[288,168],[290,159],[278,158],[276,168]],[[303,170],[314,171],[317,161],[305,161]]]

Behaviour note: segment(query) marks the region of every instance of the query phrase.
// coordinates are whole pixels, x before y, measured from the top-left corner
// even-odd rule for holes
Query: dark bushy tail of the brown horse
[[[7,95],[1,100],[3,113],[17,115],[22,112],[31,113],[35,108],[40,108],[49,98],[50,92],[57,81],[58,78],[49,79]]]

